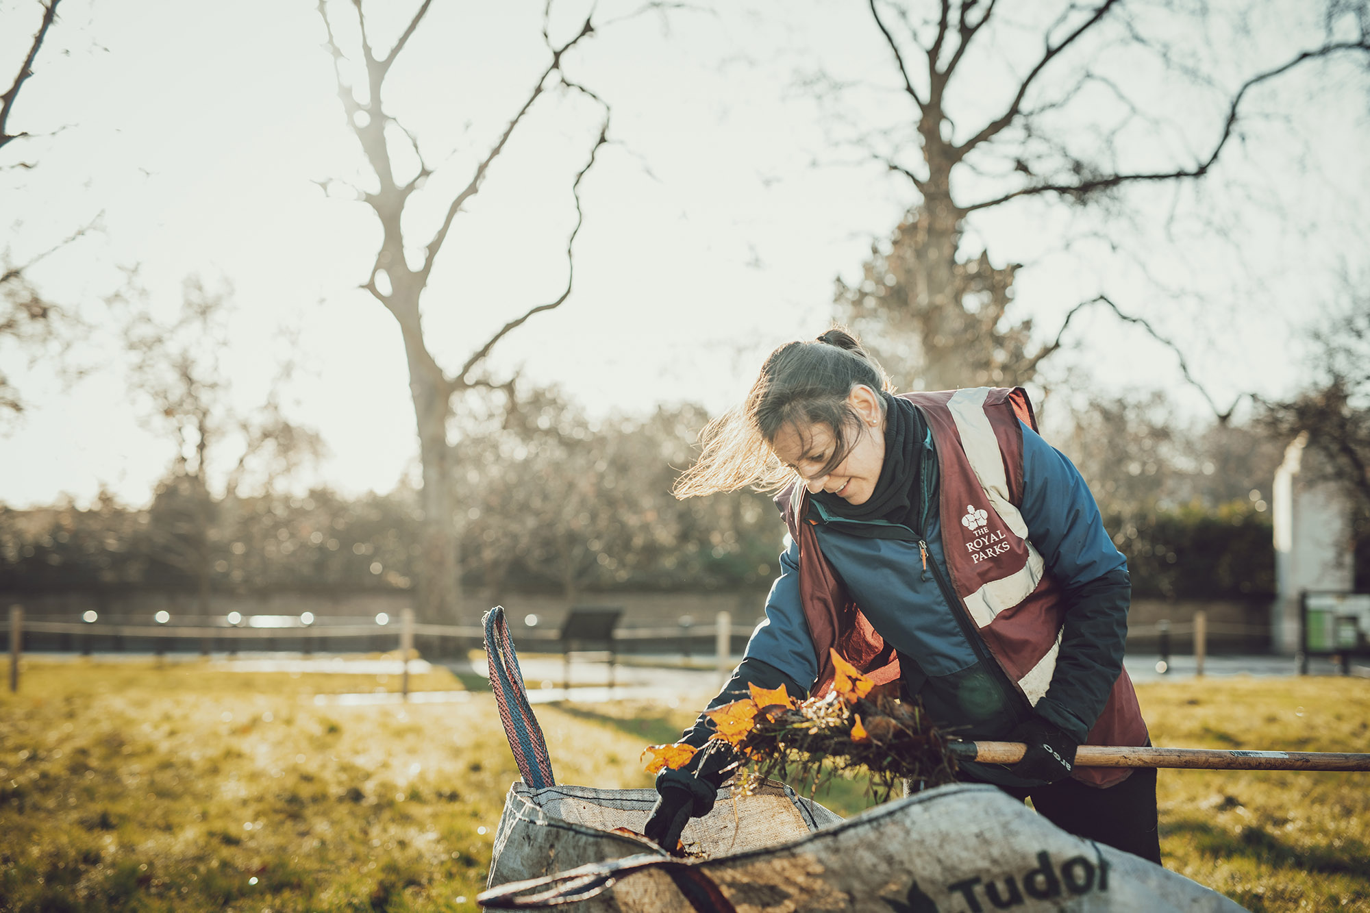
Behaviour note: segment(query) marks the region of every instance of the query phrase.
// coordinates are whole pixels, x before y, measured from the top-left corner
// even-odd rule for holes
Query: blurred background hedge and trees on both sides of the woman
[[[511,391],[512,392],[512,391]],[[590,421],[555,389],[488,393],[467,414],[453,489],[467,504],[462,577],[485,602],[541,592],[756,591],[784,525],[741,491],[678,502],[677,470],[707,421],[697,406]],[[1133,572],[1136,598],[1262,599],[1274,588],[1269,484],[1284,441],[1260,429],[1177,425],[1159,395],[1091,403],[1067,439]],[[1265,480],[1252,488],[1251,480]],[[271,594],[410,591],[422,573],[419,494],[342,498],[242,488],[207,496],[181,461],[147,509],[104,498],[0,511],[0,591]],[[758,602],[758,609],[760,603]]]

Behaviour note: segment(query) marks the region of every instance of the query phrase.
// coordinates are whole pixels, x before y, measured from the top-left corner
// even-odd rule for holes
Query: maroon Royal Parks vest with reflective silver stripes
[[[938,515],[951,585],[989,653],[1029,705],[1047,694],[1056,670],[1066,603],[1045,572],[1019,507],[1023,498],[1022,425],[1037,429],[1022,388],[904,393],[922,410],[937,447]],[[899,677],[899,659],[852,602],[818,547],[803,515],[804,487],[796,485],[785,521],[799,543],[799,589],[819,661],[817,690],[833,677],[836,647],[877,683]],[[1132,679],[1122,670],[1086,744],[1140,746],[1147,724]],[[1081,768],[1071,776],[1097,787],[1128,777],[1126,768]]]

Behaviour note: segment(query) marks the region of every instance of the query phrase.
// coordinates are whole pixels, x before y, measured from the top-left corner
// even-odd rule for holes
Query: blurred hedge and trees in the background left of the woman
[[[511,391],[512,392],[512,391]],[[614,589],[764,589],[784,526],[756,492],[675,500],[670,488],[707,415],[663,406],[590,422],[549,389],[470,404],[453,488],[466,587],[569,600]],[[193,429],[193,426],[192,426]],[[419,494],[306,496],[240,485],[211,494],[193,454],[178,456],[147,509],[112,498],[0,509],[0,592],[270,594],[401,589],[422,573]],[[208,433],[212,446],[214,433]]]

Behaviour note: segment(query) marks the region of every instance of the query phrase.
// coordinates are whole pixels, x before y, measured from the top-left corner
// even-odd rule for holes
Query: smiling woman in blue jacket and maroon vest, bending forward
[[[1022,389],[893,396],[841,329],[781,345],[747,402],[704,430],[680,498],[784,488],[781,574],[710,709],[748,684],[826,690],[829,648],[900,680],[938,727],[1023,742],[1017,765],[964,762],[1066,831],[1160,862],[1155,769],[1075,768],[1080,744],[1148,744],[1122,668],[1130,583],[1089,489],[1036,433]],[[790,484],[792,483],[792,484]],[[701,746],[707,717],[685,732]],[[664,770],[645,832],[674,847],[734,758]]]

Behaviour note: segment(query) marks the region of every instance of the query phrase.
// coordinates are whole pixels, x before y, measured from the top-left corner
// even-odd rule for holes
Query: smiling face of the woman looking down
[[[785,425],[775,433],[771,450],[800,474],[810,492],[827,491],[849,504],[864,504],[875,492],[880,470],[885,465],[885,415],[880,399],[867,387],[854,387],[847,402],[860,424],[847,429],[848,440],[855,437],[852,447],[845,459],[826,474],[823,466],[833,458],[837,444],[827,425]]]

